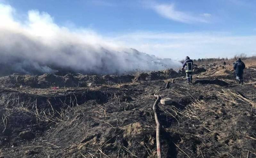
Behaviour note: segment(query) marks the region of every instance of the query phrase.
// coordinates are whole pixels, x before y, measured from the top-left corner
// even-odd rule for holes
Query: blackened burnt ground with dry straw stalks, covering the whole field
[[[157,108],[163,158],[256,157],[256,71],[245,69],[244,85],[228,66],[196,71],[190,85],[171,69],[2,77],[0,157],[155,158],[153,94],[172,79],[157,92],[172,99]]]

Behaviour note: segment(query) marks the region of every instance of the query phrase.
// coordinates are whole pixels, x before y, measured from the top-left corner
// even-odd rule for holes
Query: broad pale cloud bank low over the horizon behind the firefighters
[[[255,52],[256,36],[235,36],[229,32],[134,32],[117,36],[127,46],[162,58],[183,59],[233,57]]]

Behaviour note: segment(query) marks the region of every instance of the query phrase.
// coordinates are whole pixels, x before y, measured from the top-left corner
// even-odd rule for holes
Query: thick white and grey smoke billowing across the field
[[[180,67],[178,61],[128,49],[87,29],[58,26],[43,12],[28,11],[26,20],[0,4],[0,73],[56,73],[60,70],[97,74]]]

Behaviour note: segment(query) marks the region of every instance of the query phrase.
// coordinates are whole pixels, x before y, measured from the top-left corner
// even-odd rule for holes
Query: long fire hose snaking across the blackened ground
[[[169,88],[169,82],[166,83],[165,88],[162,88],[161,90],[165,90]],[[161,91],[159,90],[159,91]],[[158,91],[158,92],[159,92]],[[154,94],[154,97],[156,97],[156,101],[153,105],[153,111],[154,111],[154,117],[155,117],[155,121],[156,121],[156,149],[157,149],[157,158],[161,158],[161,144],[160,144],[160,123],[158,121],[158,117],[157,117],[157,113],[156,113],[156,106],[158,104],[158,102],[161,99],[161,96],[156,95],[156,93]]]

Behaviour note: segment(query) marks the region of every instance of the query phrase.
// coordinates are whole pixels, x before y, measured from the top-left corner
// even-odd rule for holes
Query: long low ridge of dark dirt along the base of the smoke
[[[54,74],[19,75],[13,74],[0,77],[2,87],[31,87],[31,88],[50,88],[50,87],[94,87],[100,85],[114,85],[122,83],[165,80],[180,76],[181,73],[173,69],[165,71],[153,71],[148,73],[138,73],[136,75],[83,75],[67,74],[64,76]]]

